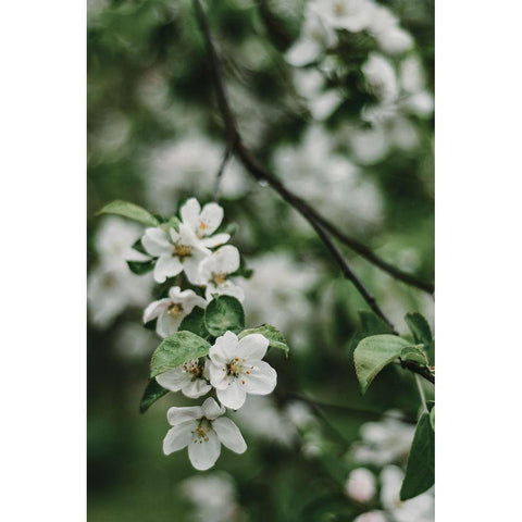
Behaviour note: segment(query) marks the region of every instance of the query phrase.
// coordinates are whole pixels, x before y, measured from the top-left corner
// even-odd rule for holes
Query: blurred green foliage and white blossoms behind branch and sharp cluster
[[[386,2],[410,37],[399,50],[376,29],[335,27],[333,42],[301,63],[310,4],[206,2],[245,141],[341,229],[433,281],[433,1]],[[244,282],[248,325],[277,325],[291,356],[270,356],[278,386],[252,407],[258,419],[237,417],[247,453],[225,450],[215,470],[197,474],[210,477],[201,484],[185,451],[162,455],[166,408],[190,401],[169,394],[139,414],[158,345],[140,325],[152,282],[124,262],[141,231],[96,212],[123,199],[170,215],[189,196],[212,199],[223,125],[190,2],[89,0],[87,36],[89,520],[353,520],[383,509],[381,470],[403,468],[418,413],[412,375],[388,368],[360,396],[350,339],[368,307],[302,217],[236,160],[224,173],[221,204],[238,226],[232,243],[254,269]],[[431,296],[345,253],[399,332],[411,311],[433,326]],[[399,414],[405,423],[388,419]],[[372,428],[384,443],[364,436]],[[380,460],[391,445],[386,433],[399,438],[399,451]],[[361,460],[364,444],[370,457]],[[380,492],[362,504],[346,485],[361,462]],[[224,499],[213,514],[201,512],[207,500],[198,495],[208,499],[208,492]],[[413,510],[395,519],[430,515]]]

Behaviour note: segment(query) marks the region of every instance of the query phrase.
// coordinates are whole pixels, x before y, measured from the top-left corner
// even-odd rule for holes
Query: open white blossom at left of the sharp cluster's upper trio
[[[199,263],[210,256],[210,250],[188,225],[181,223],[179,232],[173,227],[147,228],[141,244],[148,253],[158,258],[154,265],[154,279],[158,283],[184,271],[190,283],[199,284]]]

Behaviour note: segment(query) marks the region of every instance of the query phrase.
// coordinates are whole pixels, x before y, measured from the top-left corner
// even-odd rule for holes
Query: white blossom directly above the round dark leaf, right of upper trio
[[[239,251],[231,245],[221,247],[201,262],[200,282],[207,286],[206,297],[208,300],[212,299],[214,295],[233,296],[240,301],[245,299],[243,288],[229,277],[239,269]]]

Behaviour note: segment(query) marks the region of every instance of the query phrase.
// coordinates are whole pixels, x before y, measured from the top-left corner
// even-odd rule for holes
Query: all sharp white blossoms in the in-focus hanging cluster
[[[215,296],[244,300],[244,290],[234,281],[240,264],[239,251],[224,245],[228,234],[216,233],[222,220],[223,209],[219,204],[208,203],[201,209],[192,198],[182,207],[178,224],[171,219],[166,224],[145,231],[141,245],[156,260],[154,279],[164,283],[184,273],[191,285],[204,293],[203,298],[192,289],[173,286],[167,297],[146,308],[144,322],[157,320],[156,328],[161,337],[174,334],[196,307],[204,309]],[[241,408],[247,394],[273,391],[276,372],[262,360],[268,348],[269,339],[263,335],[254,333],[239,338],[227,331],[215,338],[208,357],[189,360],[156,377],[171,391],[182,391],[189,398],[212,393],[219,400],[208,397],[201,406],[169,410],[172,427],[163,442],[165,455],[188,446],[192,465],[208,470],[217,460],[222,444],[237,453],[247,449],[236,424],[222,415],[226,408]]]

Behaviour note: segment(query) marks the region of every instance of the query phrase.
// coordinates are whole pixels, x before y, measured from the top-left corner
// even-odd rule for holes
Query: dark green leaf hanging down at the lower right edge
[[[432,410],[433,411],[433,410]],[[423,413],[417,424],[411,445],[406,476],[400,488],[400,499],[408,500],[433,486],[435,483],[435,432],[430,414]]]

